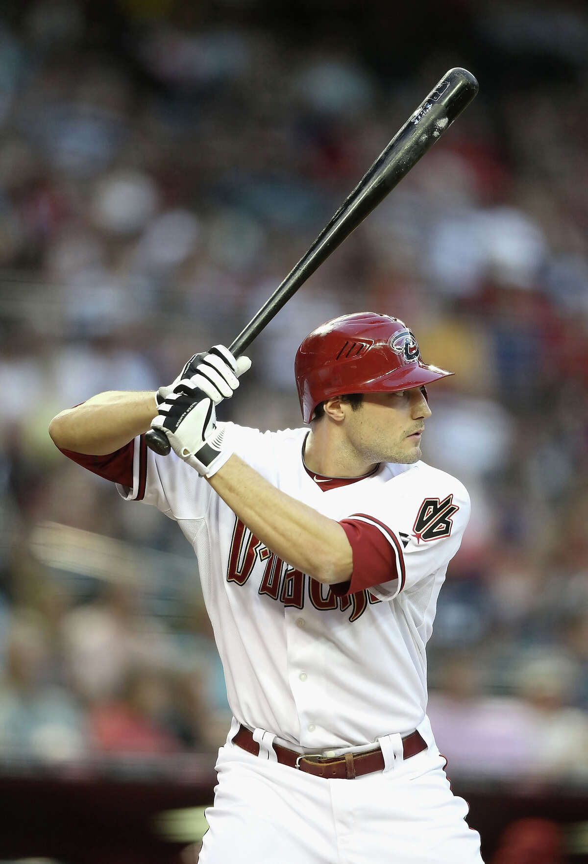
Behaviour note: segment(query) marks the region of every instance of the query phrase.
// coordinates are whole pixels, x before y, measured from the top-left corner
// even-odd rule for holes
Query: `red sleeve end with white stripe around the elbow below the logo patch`
[[[404,581],[402,545],[393,531],[363,514],[341,519],[339,524],[351,545],[353,573],[348,581],[330,586],[333,594],[356,594],[399,577]]]

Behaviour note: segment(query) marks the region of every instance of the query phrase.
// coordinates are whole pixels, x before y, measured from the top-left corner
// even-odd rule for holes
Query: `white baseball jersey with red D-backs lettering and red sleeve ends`
[[[227,423],[225,442],[273,486],[342,521],[350,585],[329,588],[280,561],[193,468],[153,454],[143,437],[132,487],[118,491],[156,505],[192,544],[236,720],[321,753],[423,721],[425,645],[470,499],[422,461],[382,464],[359,480],[317,477],[304,467],[307,434]]]

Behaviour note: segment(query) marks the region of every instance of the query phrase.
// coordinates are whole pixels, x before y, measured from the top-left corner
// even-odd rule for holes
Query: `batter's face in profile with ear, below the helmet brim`
[[[408,465],[421,458],[421,435],[431,409],[420,387],[395,393],[367,393],[359,409],[346,414],[348,442],[370,464]]]

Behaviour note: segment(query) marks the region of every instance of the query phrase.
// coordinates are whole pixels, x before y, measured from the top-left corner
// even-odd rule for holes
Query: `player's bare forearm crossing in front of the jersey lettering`
[[[351,546],[335,519],[281,492],[234,454],[208,482],[283,561],[325,584],[350,578]]]

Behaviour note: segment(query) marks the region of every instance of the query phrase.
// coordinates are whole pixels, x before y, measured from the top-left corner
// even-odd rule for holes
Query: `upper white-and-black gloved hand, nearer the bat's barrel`
[[[239,387],[239,377],[251,367],[248,357],[234,358],[224,345],[215,345],[190,357],[182,372],[172,384],[157,391],[157,404],[162,405],[172,393],[190,396],[208,396],[215,405],[233,396]]]

